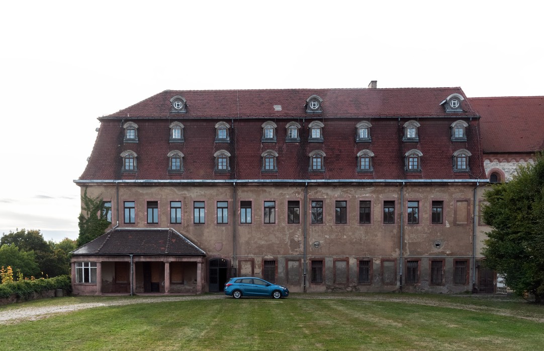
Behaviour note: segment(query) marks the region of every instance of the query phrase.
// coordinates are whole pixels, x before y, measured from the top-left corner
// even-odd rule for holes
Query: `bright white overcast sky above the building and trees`
[[[368,2],[370,3],[370,2]],[[163,90],[544,95],[541,2],[4,1],[0,234],[76,239],[97,117]]]

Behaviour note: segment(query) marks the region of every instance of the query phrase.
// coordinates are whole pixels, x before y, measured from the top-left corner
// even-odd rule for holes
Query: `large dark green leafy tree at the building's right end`
[[[513,180],[484,194],[485,265],[504,276],[517,295],[544,303],[544,152],[519,167]]]

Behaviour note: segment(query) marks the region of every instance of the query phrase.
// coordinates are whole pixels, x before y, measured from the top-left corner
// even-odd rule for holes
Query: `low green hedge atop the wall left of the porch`
[[[11,295],[26,297],[33,292],[63,289],[71,291],[72,280],[70,276],[58,276],[48,279],[17,280],[0,284],[0,298],[7,298]]]

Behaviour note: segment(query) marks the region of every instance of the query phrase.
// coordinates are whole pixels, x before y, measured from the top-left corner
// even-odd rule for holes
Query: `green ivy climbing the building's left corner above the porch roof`
[[[87,189],[81,197],[83,202],[84,212],[79,214],[79,237],[77,238],[77,246],[85,245],[86,243],[100,237],[106,232],[106,228],[111,224],[108,221],[109,207],[104,207],[101,196],[87,196]],[[85,213],[85,214],[84,214]],[[86,216],[85,216],[86,215]]]

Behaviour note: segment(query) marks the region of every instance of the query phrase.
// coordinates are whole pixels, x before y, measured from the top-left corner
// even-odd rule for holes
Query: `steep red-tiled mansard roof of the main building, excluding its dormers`
[[[460,88],[406,89],[328,89],[328,90],[244,90],[244,91],[164,91],[127,109],[100,118],[101,127],[90,161],[81,180],[226,180],[226,179],[474,179],[485,178],[479,150],[478,118],[468,99],[462,101],[463,113],[446,113],[440,103],[450,94],[464,96]],[[307,114],[306,99],[316,94],[323,98],[323,114]],[[181,95],[187,100],[187,113],[169,113],[170,99]],[[274,105],[281,105],[275,111]],[[240,116],[240,117],[238,117]],[[403,125],[418,120],[419,142],[402,141]],[[452,142],[450,126],[463,119],[467,142]],[[230,143],[215,143],[215,124],[229,123]],[[266,120],[277,124],[276,143],[261,142]],[[323,143],[308,142],[308,124],[324,123]],[[372,142],[356,143],[356,125],[362,120],[372,124]],[[138,143],[123,143],[123,122],[138,124]],[[169,125],[184,125],[184,143],[170,143]],[[301,125],[300,142],[286,142],[286,125]],[[227,150],[230,173],[214,171],[214,153]],[[357,172],[357,153],[374,153],[374,171]],[[423,153],[422,171],[404,170],[408,150]],[[471,172],[454,172],[452,155],[459,149],[471,152]],[[123,151],[132,150],[138,170],[122,172]],[[172,150],[184,154],[183,173],[168,171]],[[274,150],[277,172],[264,173],[261,154]],[[312,150],[325,152],[325,172],[308,171]]]

